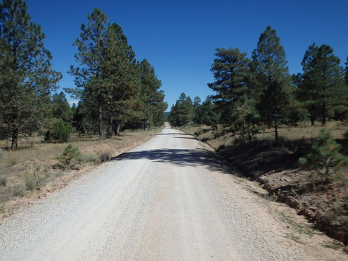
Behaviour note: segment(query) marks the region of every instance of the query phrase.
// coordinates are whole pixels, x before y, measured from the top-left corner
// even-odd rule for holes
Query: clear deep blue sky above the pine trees
[[[270,25],[285,48],[291,73],[301,72],[310,44],[327,44],[344,65],[348,56],[348,0],[28,0],[33,22],[47,36],[61,89],[73,87],[73,65],[81,23],[94,7],[119,24],[138,61],[154,66],[168,111],[180,93],[205,100],[213,94],[210,68],[216,47],[239,47],[251,56],[260,33]],[[72,102],[72,99],[68,97]]]

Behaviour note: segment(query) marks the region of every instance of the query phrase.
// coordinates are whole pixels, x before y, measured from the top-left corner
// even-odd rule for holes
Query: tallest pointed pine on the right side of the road
[[[267,26],[253,51],[252,71],[255,75],[254,97],[262,119],[274,127],[278,143],[278,127],[290,120],[292,90],[285,51],[276,31]]]

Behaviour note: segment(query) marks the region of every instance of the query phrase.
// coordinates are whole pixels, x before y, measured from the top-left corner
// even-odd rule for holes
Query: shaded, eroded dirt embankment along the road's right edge
[[[196,132],[197,139],[206,141],[219,152],[228,166],[238,168],[245,177],[257,180],[269,191],[262,195],[269,200],[287,203],[308,221],[348,244],[348,177],[335,173],[330,182],[315,172],[304,171],[297,163],[311,148],[310,141],[283,141],[275,147],[270,141],[226,145],[228,140],[207,131]]]

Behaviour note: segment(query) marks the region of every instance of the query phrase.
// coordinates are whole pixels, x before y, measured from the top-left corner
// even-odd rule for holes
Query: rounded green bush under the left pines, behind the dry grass
[[[72,125],[62,119],[56,119],[45,134],[45,141],[68,142],[72,132]]]

